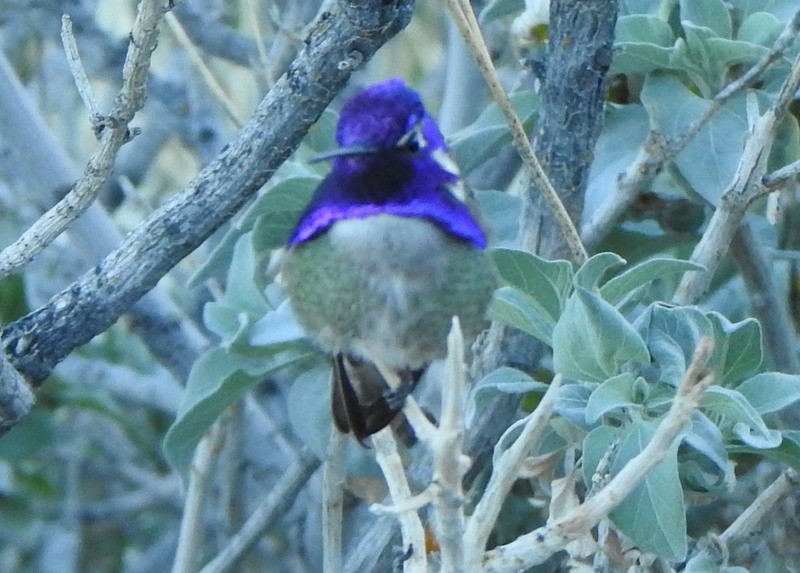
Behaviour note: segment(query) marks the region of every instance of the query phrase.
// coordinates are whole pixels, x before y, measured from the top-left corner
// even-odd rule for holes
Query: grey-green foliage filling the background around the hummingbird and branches
[[[134,122],[142,134],[124,146],[100,198],[104,216],[119,233],[146,218],[230,140],[302,49],[319,4],[191,0],[177,6],[176,20],[190,43],[179,39],[175,23],[162,24],[148,102]],[[501,78],[530,131],[546,66],[546,23],[537,20],[535,4],[476,3]],[[720,89],[764,55],[796,9],[791,0],[619,3],[609,104],[592,160],[584,225],[614,193],[619,174],[649,131],[679,136]],[[94,146],[88,112],[59,40],[62,13],[73,19],[92,87],[106,107],[119,87],[135,10],[128,0],[0,3],[3,55],[24,84],[28,105],[71,165],[67,172],[33,172],[26,168],[26,154],[41,150],[21,148],[0,131],[0,245],[10,243],[63,192]],[[799,48],[795,42],[755,86],[763,106]],[[688,268],[680,260],[691,254],[737,169],[748,125],[744,96],[727,102],[591,246],[593,252],[618,256],[598,255],[588,270],[574,273],[568,263],[544,263],[503,249],[515,244],[518,232],[524,185],[519,160],[441,3],[420,0],[410,26],[354,76],[259,196],[162,280],[159,288],[209,339],[188,380],[176,380],[160,366],[123,318],[61,363],[39,392],[34,412],[0,439],[0,571],[144,573],[170,567],[194,448],[220,416],[224,441],[198,565],[225,547],[298,451],[323,455],[330,426],[328,372],[274,282],[276,249],[324,174],[324,166],[307,160],[332,145],[343,99],[360,86],[395,76],[418,89],[438,118],[500,248],[496,257],[508,284],[498,293],[493,318],[554,348],[536,372],[490,374],[481,392],[471,396],[471,408],[493,392],[511,392],[525,396],[523,409],[531,409],[554,371],[573,378],[553,430],[536,453],[565,456],[582,448],[589,487],[609,444],[621,444],[615,462],[621,464],[641,448],[635,442],[652,433],[698,333],[724,341],[726,351],[730,344],[718,364],[739,360],[745,366],[719,383],[704,414],[693,421],[693,441],[661,468],[666,475],[654,474],[645,484],[649,501],[638,498],[638,508],[629,504],[612,515],[622,533],[673,563],[686,555],[687,528],[693,539],[724,528],[776,475],[778,465],[763,460],[800,466],[800,436],[787,432],[778,414],[800,398],[793,376],[798,372],[776,359],[768,338],[762,345],[761,328],[751,318],[759,293],[748,286],[741,267],[729,262],[720,269],[699,310],[662,304]],[[772,150],[773,169],[800,158],[796,103],[791,111]],[[0,116],[4,113],[0,109]],[[53,188],[54,182],[61,187]],[[765,217],[766,200],[753,206],[748,223],[766,257],[779,312],[792,318],[794,337],[800,312],[794,182],[782,201],[777,225]],[[96,264],[98,251],[110,250],[114,241],[100,235],[95,249],[86,248],[86,237],[66,235],[24,273],[0,282],[2,322],[37,308]],[[543,298],[545,291],[550,299]],[[656,332],[680,334],[664,342],[656,340]],[[599,350],[581,354],[590,347]],[[775,370],[792,376],[782,378]],[[765,395],[777,402],[768,403]],[[358,447],[348,456],[348,487],[356,494],[348,503],[381,499],[370,456]],[[237,570],[320,570],[319,480],[316,472]],[[549,494],[546,479],[521,480],[493,543],[541,524]],[[682,510],[684,500],[685,512],[669,513],[676,504]],[[791,542],[798,531],[795,503],[780,506],[764,535],[736,549],[737,564],[753,572],[800,565]],[[370,517],[354,511],[346,535]],[[643,532],[650,545],[642,541]],[[556,567],[549,563],[536,571]]]

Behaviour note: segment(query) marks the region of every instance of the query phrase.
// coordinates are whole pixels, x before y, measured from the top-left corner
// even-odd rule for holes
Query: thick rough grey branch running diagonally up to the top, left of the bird
[[[106,330],[230,219],[295,150],[350,75],[401,30],[413,0],[340,2],[222,153],[94,269],[0,335],[34,386]]]

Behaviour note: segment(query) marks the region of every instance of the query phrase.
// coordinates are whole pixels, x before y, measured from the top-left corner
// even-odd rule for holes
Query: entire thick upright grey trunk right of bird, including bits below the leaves
[[[572,220],[579,224],[594,146],[603,125],[606,73],[611,64],[617,3],[554,0],[550,5],[549,48],[535,149]],[[547,259],[570,258],[553,216],[536,189],[529,189],[520,230],[522,248]],[[546,348],[520,331],[495,327],[490,333],[486,371],[509,365],[532,370]],[[492,449],[517,412],[519,399],[498,397],[481,410],[467,435],[475,459],[468,479],[486,470]]]

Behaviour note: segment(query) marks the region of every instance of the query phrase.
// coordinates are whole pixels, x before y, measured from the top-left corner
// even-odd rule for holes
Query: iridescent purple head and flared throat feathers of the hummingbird
[[[402,146],[415,128],[421,145]],[[319,236],[337,221],[388,214],[425,219],[456,239],[486,247],[483,229],[451,191],[458,175],[437,159],[447,152],[441,132],[402,80],[373,85],[351,98],[339,117],[336,141],[344,154],[333,159],[288,246]]]

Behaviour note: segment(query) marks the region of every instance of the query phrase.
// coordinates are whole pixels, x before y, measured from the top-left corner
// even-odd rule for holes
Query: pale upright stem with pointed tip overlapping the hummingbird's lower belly
[[[447,338],[446,374],[442,384],[442,415],[430,443],[433,453],[434,533],[441,555],[440,573],[464,571],[464,499],[461,479],[466,471],[464,441],[464,337],[458,318]]]

